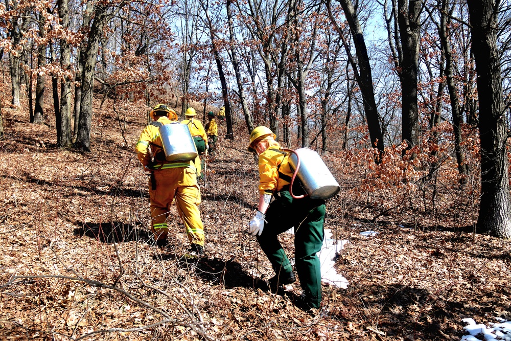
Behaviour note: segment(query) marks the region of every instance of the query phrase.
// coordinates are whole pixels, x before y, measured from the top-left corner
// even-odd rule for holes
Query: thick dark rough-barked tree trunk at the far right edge
[[[507,134],[497,47],[499,0],[468,0],[479,95],[481,199],[477,228],[511,238]]]

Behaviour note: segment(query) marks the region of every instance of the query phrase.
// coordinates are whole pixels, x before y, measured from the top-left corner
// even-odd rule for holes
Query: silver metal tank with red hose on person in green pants
[[[296,149],[300,157],[300,167],[296,176],[312,199],[328,199],[339,193],[341,188],[336,179],[321,160],[321,156],[309,148]],[[296,169],[298,159],[294,153],[289,156],[291,170]]]

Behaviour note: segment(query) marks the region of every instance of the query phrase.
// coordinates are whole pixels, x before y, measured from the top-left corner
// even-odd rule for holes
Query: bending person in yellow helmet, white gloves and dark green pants
[[[263,126],[250,134],[248,150],[259,156],[260,198],[258,211],[249,223],[249,233],[257,236],[275,270],[275,276],[268,282],[272,290],[277,290],[281,285],[295,282],[291,263],[277,238],[294,226],[296,272],[303,289],[298,304],[306,310],[319,308],[321,264],[316,253],[323,242],[324,200],[291,196],[289,184],[293,172],[288,163],[289,154],[274,139],[273,132]],[[297,190],[293,188],[293,194],[301,194],[295,193]],[[274,201],[270,204],[271,196]]]

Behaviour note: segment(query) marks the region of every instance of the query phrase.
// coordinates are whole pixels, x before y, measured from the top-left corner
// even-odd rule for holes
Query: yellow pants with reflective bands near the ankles
[[[199,213],[200,191],[195,169],[179,167],[155,170],[154,190],[151,178],[149,178],[149,198],[154,239],[167,238],[169,229],[166,220],[172,201],[176,199],[177,212],[183,220],[188,239],[192,243],[203,246],[204,227]]]

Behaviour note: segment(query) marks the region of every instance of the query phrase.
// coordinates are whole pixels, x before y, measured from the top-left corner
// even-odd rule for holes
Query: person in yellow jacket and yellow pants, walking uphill
[[[169,229],[166,220],[175,199],[191,242],[189,252],[200,255],[203,253],[204,228],[199,213],[200,192],[195,165],[192,161],[168,162],[159,134],[160,126],[177,121],[176,112],[165,104],[158,104],[149,115],[154,122],[144,128],[135,150],[144,170],[151,172],[149,199],[154,240],[158,246],[167,244]]]

